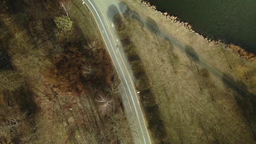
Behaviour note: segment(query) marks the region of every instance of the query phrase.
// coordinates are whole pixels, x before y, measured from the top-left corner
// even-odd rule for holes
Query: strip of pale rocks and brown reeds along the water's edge
[[[172,23],[176,23],[176,24],[178,24],[180,26],[183,26],[184,28],[189,30],[191,33],[195,33],[196,35],[200,36],[202,39],[206,40],[207,42],[213,43],[214,45],[216,45],[216,44],[223,44],[225,46],[225,48],[233,50],[233,52],[236,52],[241,58],[247,59],[247,60],[249,60],[251,62],[256,62],[256,56],[253,53],[246,52],[246,50],[241,48],[240,46],[236,46],[234,44],[226,44],[226,43],[221,42],[220,40],[216,41],[216,40],[213,40],[213,39],[208,39],[207,37],[204,37],[204,36],[200,35],[199,33],[196,33],[192,29],[192,26],[189,23],[181,21],[177,16],[172,16],[172,15],[170,15],[167,12],[162,13],[161,11],[158,11],[156,9],[156,6],[151,5],[149,2],[147,2],[145,0],[138,0],[138,1],[140,3],[142,3],[148,9],[153,10],[153,11],[161,14],[167,20],[170,20]]]

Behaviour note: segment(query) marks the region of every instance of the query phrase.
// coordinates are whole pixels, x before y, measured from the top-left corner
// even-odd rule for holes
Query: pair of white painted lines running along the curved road
[[[96,10],[95,7],[93,6],[92,2],[91,2],[90,0],[88,0],[88,1],[89,1],[89,3],[92,5],[93,9],[95,10],[95,12],[96,12],[96,14],[97,14],[97,16],[98,16],[98,18],[99,18],[99,20],[100,20],[100,22],[101,22],[103,28],[104,28],[104,31],[105,31],[105,33],[106,33],[106,36],[108,37],[107,31],[106,31],[106,29],[105,29],[105,26],[103,25],[102,20],[101,20],[101,18],[100,18],[100,16],[99,16],[97,10]],[[117,59],[117,56],[116,56],[116,54],[115,54],[115,50],[114,50],[114,48],[113,48],[113,46],[112,46],[112,43],[111,43],[109,37],[108,37],[108,41],[109,41],[110,46],[111,46],[111,48],[112,48],[112,51],[113,51],[113,53],[114,53],[114,55],[115,55],[116,61],[118,62],[118,66],[119,66],[119,68],[120,68],[120,70],[121,70],[121,72],[122,72],[122,75],[123,75],[123,77],[124,77],[124,79],[125,79],[124,72],[123,72],[123,70],[121,69],[121,65],[120,65],[120,63],[119,63],[119,61],[118,61],[118,59]],[[130,88],[129,88],[129,86],[128,86],[128,83],[127,83],[127,80],[126,80],[126,79],[125,79],[125,83],[126,83],[126,85],[127,85],[127,88],[128,88],[128,90],[129,90],[129,93],[130,93],[130,95],[131,95],[131,90],[130,90]],[[141,127],[140,118],[139,118],[139,116],[138,116],[138,111],[137,111],[137,109],[136,109],[136,106],[135,106],[134,100],[133,100],[133,98],[132,98],[132,95],[131,95],[131,100],[132,100],[132,103],[133,103],[133,105],[134,105],[136,115],[137,115],[137,117],[138,117],[138,122],[139,122],[139,125],[140,125],[140,128],[141,128],[141,132],[142,132],[142,136],[143,136],[143,139],[144,139],[144,143],[146,144],[146,140],[145,140],[145,137],[144,137],[144,133],[143,133],[143,130],[142,130],[142,127]]]

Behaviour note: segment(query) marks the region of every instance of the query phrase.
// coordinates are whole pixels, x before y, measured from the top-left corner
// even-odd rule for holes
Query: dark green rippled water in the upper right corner
[[[256,0],[149,0],[210,39],[256,54]]]

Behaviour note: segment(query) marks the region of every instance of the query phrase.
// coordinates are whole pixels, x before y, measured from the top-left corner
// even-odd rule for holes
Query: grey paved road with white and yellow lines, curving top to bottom
[[[98,5],[97,1],[101,2],[101,6]],[[109,3],[109,0],[105,1],[108,1],[108,4],[113,5],[113,3]],[[130,121],[130,123],[133,124],[132,130],[136,131],[135,143],[151,144],[145,121],[141,112],[141,108],[138,103],[138,98],[136,95],[137,92],[134,88],[131,75],[128,72],[127,65],[124,62],[124,58],[120,53],[121,45],[118,44],[118,38],[116,38],[116,35],[113,36],[112,34],[114,26],[113,24],[109,26],[109,16],[107,17],[106,13],[104,13],[104,11],[108,9],[109,5],[102,5],[101,0],[83,0],[82,3],[85,4],[92,12],[92,15],[94,16],[95,21],[98,24],[98,28],[102,34],[102,38],[105,42],[108,52],[112,58],[113,64],[115,65],[118,75],[120,76],[123,90],[126,95],[126,99],[122,98],[125,105],[125,110],[127,113],[131,114],[128,115],[128,118],[133,120],[133,122]]]

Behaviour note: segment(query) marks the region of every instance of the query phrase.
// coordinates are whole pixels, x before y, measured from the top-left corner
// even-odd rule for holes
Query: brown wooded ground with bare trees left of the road
[[[132,143],[97,26],[81,1],[70,5],[73,26],[62,33],[57,1],[0,2],[0,47],[11,62],[0,71],[1,143]]]

